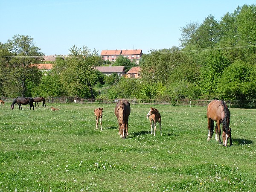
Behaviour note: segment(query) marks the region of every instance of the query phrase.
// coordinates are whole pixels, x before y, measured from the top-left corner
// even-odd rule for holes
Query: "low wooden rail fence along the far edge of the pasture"
[[[2,97],[4,102],[12,102],[15,98]],[[46,103],[100,103],[100,104],[111,104],[116,103],[120,99],[84,99],[78,97],[49,97],[45,98]],[[126,99],[131,105],[184,105],[184,106],[207,106],[211,100],[190,100],[190,99]],[[239,108],[256,108],[254,100],[246,101],[226,101],[228,107],[239,107]]]

